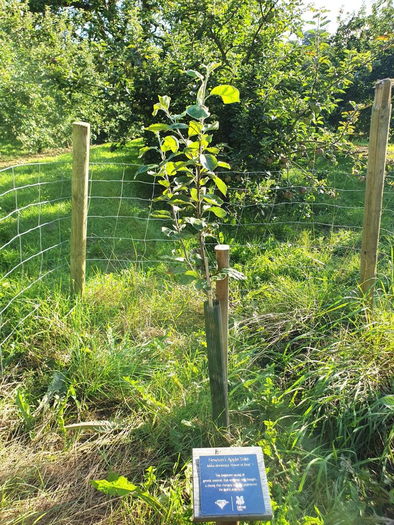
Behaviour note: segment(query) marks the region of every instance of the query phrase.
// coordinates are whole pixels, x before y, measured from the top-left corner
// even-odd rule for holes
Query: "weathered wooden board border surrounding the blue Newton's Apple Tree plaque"
[[[202,516],[200,500],[200,457],[215,455],[247,455],[255,454],[257,457],[258,471],[264,500],[264,514],[227,514],[221,516]],[[264,457],[261,447],[223,447],[223,448],[193,448],[193,521],[196,523],[216,521],[229,522],[237,520],[247,521],[269,521],[272,519],[271,500],[269,499],[267,476],[265,474]]]

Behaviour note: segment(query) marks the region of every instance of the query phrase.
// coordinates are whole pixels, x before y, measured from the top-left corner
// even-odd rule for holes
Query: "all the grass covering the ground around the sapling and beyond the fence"
[[[133,164],[139,146],[96,146],[91,161]],[[18,207],[65,198],[26,208],[19,226],[15,216],[0,222],[2,245],[18,227],[48,223],[23,236],[22,260],[50,248],[2,280],[2,304],[16,297],[0,334],[16,327],[2,349],[2,525],[189,523],[191,448],[223,440],[263,447],[276,525],[392,522],[391,180],[372,314],[357,290],[364,195],[358,177],[330,168],[327,185],[337,191],[320,194],[317,186],[304,198],[295,174],[286,181],[295,188],[291,201],[277,192],[268,215],[251,206],[238,227],[223,227],[221,240],[232,244],[232,264],[247,280],[232,283],[232,424],[221,436],[210,419],[202,297],[164,275],[160,256],[173,245],[160,223],[144,220],[149,208],[141,199],[151,186],[134,181],[132,166],[93,166],[91,195],[115,198],[90,201],[87,292],[73,301],[70,156],[56,160],[63,164],[14,169],[15,185],[37,182],[38,173],[53,182],[41,192],[18,191]],[[97,182],[108,180],[118,182]],[[0,172],[0,192],[12,184],[12,172]],[[261,187],[260,196],[269,191]],[[128,198],[119,207],[120,192]],[[253,192],[235,192],[232,203],[242,208],[235,205],[254,199]],[[2,216],[12,212],[15,192],[1,206]],[[0,251],[3,276],[20,253],[19,237]],[[91,486],[110,472],[136,484],[134,496],[111,497]]]

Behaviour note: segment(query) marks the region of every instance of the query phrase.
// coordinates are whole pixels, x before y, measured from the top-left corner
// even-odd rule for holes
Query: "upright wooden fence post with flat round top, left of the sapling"
[[[85,291],[90,124],[72,123],[71,293]]]

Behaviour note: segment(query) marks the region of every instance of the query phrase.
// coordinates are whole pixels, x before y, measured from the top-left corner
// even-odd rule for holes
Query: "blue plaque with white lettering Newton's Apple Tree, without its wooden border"
[[[200,456],[202,516],[265,514],[256,454]]]

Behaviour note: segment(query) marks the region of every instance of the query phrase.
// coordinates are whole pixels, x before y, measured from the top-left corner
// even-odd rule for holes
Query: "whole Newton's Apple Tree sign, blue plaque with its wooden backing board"
[[[193,448],[193,521],[272,519],[261,447]]]

